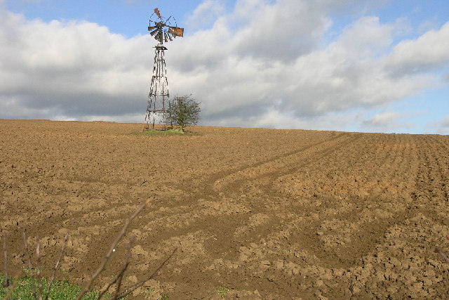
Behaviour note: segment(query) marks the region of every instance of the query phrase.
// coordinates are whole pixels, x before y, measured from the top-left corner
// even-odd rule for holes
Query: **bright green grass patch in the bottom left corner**
[[[0,299],[3,299],[6,294],[8,293],[8,288],[3,287],[3,283],[5,281],[4,276],[0,276]],[[23,278],[20,278],[17,285],[15,285],[13,294],[11,296],[11,300],[13,299],[20,299],[20,300],[34,300],[33,296],[33,282],[34,282],[34,291],[37,291],[39,289],[38,282],[36,279],[32,280],[31,277],[26,276]],[[42,296],[45,297],[47,292],[47,285],[48,280],[43,279],[42,280]],[[12,282],[11,282],[12,286]],[[67,300],[67,299],[76,299],[76,295],[81,292],[81,286],[74,285],[73,283],[70,283],[68,281],[53,281],[53,284],[51,285],[51,291],[49,299],[52,300]],[[94,300],[98,298],[98,292],[91,291],[88,292],[85,296],[83,296],[83,300]],[[107,297],[105,298],[107,299]]]

